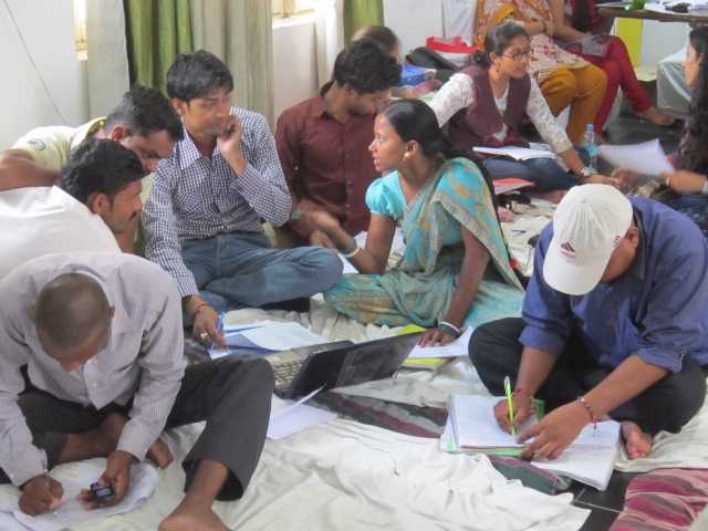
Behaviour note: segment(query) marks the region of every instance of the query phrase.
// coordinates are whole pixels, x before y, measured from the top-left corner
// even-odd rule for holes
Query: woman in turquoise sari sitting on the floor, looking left
[[[518,315],[523,292],[509,264],[491,185],[472,160],[451,150],[430,107],[400,100],[384,108],[369,150],[376,170],[386,175],[366,192],[366,248],[326,212],[315,220],[362,273],[345,275],[325,300],[363,323],[435,327],[423,344],[448,343],[465,326]],[[406,249],[386,271],[398,223]],[[499,280],[483,279],[490,261]]]

